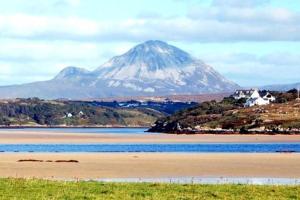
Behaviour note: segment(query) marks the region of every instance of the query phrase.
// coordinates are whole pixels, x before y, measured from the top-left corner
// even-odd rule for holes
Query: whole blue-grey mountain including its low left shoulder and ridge
[[[238,87],[187,52],[151,40],[94,71],[68,67],[49,81],[0,87],[0,97],[162,96],[229,92]]]

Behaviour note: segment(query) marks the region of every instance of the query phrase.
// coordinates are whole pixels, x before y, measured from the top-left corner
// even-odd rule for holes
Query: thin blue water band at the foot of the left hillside
[[[60,132],[60,133],[109,133],[109,134],[147,134],[146,128],[12,128],[1,131],[34,131],[34,132]]]

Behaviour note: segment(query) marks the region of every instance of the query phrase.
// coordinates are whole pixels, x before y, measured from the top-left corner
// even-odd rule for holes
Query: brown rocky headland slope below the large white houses
[[[204,102],[155,122],[150,132],[299,132],[300,102],[295,91],[274,93],[277,102],[267,106],[244,108],[242,101],[224,98]]]

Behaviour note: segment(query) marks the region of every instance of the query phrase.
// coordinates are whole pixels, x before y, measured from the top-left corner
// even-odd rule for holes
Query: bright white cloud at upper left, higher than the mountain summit
[[[0,34],[6,38],[75,40],[75,36],[94,36],[101,28],[101,24],[74,17],[0,16]]]

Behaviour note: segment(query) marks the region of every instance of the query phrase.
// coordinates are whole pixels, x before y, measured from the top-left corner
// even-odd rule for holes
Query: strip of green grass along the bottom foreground
[[[176,185],[0,179],[0,199],[300,199],[300,186]]]

